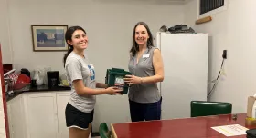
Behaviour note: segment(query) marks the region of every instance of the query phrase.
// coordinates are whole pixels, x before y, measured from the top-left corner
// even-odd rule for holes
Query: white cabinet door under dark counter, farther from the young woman
[[[59,138],[55,93],[27,94],[29,138]]]

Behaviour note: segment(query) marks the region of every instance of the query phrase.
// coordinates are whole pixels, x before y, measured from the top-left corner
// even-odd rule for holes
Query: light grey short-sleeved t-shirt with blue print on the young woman
[[[95,95],[80,96],[77,94],[74,86],[74,80],[82,80],[86,87],[96,88],[95,71],[86,55],[84,58],[74,52],[67,57],[65,70],[67,73],[69,84],[71,84],[71,94],[69,104],[76,107],[84,113],[90,113],[94,109],[96,102]]]

